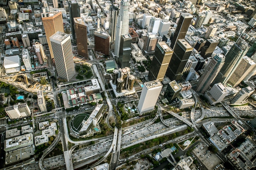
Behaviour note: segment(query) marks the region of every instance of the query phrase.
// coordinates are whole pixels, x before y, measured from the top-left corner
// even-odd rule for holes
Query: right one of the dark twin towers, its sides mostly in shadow
[[[173,49],[173,57],[168,65],[166,76],[171,80],[180,78],[192,50],[193,47],[185,39],[178,39]]]

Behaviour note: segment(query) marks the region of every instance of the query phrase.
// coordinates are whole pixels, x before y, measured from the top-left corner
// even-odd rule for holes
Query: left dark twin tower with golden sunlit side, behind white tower
[[[173,49],[165,41],[158,42],[156,46],[153,61],[148,72],[148,79],[150,81],[162,81],[164,79],[171,57],[173,56]]]

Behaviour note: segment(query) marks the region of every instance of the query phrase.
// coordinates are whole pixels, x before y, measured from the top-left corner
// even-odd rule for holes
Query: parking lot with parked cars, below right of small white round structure
[[[216,166],[218,168],[218,165],[221,163],[221,160],[214,153],[209,151],[208,146],[205,144],[198,144],[195,149],[192,150],[192,153],[194,155],[194,157],[192,157],[194,159],[197,158],[208,170],[213,170]]]

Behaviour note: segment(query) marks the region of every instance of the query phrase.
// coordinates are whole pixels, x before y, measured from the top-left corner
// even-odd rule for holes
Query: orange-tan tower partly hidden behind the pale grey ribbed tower
[[[54,58],[54,54],[52,51],[51,41],[50,37],[54,35],[57,31],[61,31],[64,33],[64,27],[63,27],[63,19],[62,19],[62,13],[42,13],[42,21],[45,28],[45,35],[47,38],[49,50],[52,59]]]

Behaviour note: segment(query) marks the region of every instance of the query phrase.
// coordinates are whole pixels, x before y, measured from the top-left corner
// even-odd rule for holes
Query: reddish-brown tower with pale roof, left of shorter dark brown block
[[[88,58],[87,26],[85,25],[82,17],[74,18],[74,29],[78,55]]]

